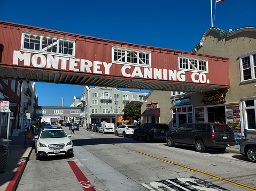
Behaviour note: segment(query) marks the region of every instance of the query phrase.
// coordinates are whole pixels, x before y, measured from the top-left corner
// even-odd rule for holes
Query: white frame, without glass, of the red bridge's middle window
[[[123,51],[125,52],[125,55],[123,55],[122,57],[125,57],[125,61],[118,61],[118,60],[114,60],[114,53],[115,50],[118,51]],[[137,63],[132,63],[132,62],[127,62],[127,54],[128,52],[134,52],[135,56],[137,56]],[[142,58],[139,58],[138,54],[146,54],[148,55],[148,64],[146,64],[145,62],[143,62]],[[119,59],[120,60],[120,59]],[[140,63],[141,62],[141,63]],[[136,66],[140,66],[140,67],[151,67],[151,52],[150,51],[142,51],[139,49],[131,49],[131,48],[124,48],[124,47],[118,47],[118,46],[112,46],[112,63],[115,64],[124,64],[124,65],[136,65]]]

